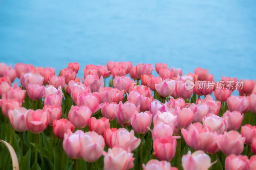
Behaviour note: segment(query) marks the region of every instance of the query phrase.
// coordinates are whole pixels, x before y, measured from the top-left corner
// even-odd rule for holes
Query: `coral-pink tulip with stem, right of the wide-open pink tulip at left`
[[[48,125],[52,126],[53,120],[57,119],[59,120],[61,117],[61,107],[59,105],[45,105],[43,108],[44,111],[47,111],[49,114],[49,121],[48,121]]]

